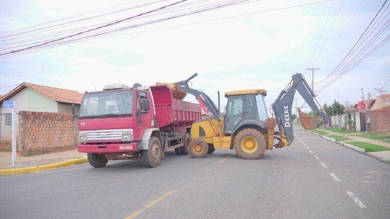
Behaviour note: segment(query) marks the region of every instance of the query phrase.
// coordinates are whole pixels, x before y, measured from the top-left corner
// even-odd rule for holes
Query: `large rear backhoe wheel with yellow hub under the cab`
[[[242,159],[257,159],[263,156],[265,149],[264,136],[254,128],[242,129],[234,137],[234,150]]]

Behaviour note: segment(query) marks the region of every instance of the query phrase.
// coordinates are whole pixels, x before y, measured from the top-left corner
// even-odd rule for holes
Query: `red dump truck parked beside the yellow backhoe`
[[[86,92],[78,114],[79,152],[93,167],[108,160],[142,159],[156,167],[164,151],[187,154],[190,128],[201,118],[199,104],[174,98],[171,87],[106,86]]]

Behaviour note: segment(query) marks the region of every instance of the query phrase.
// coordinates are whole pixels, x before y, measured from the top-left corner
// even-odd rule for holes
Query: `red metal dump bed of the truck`
[[[157,127],[177,124],[178,127],[191,126],[201,118],[199,104],[175,99],[170,87],[167,85],[151,86],[150,91],[156,109]]]

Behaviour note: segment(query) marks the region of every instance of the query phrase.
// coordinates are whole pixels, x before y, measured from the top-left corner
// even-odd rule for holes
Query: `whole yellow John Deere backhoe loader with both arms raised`
[[[196,75],[174,83],[178,90],[193,94],[207,113],[206,118],[195,121],[191,127],[192,142],[187,149],[195,158],[203,158],[215,149],[234,148],[243,159],[257,159],[266,149],[290,146],[293,141],[291,108],[295,90],[320,117],[314,119],[303,112],[300,114],[310,128],[328,121],[326,113],[314,103],[314,94],[299,73],[292,76],[288,89],[283,90],[273,103],[274,118],[269,117],[266,110],[264,97],[267,91],[261,89],[226,92],[226,112],[220,114],[208,95],[188,86],[188,81]]]

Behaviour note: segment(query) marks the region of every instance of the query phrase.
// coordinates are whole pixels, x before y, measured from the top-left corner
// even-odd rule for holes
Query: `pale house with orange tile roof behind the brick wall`
[[[0,113],[11,113],[11,109],[2,108],[4,100],[14,100],[16,111],[71,113],[75,104],[78,112],[82,97],[83,94],[78,91],[23,82],[0,97]]]

